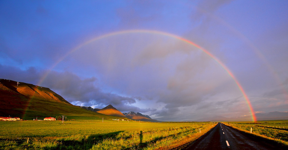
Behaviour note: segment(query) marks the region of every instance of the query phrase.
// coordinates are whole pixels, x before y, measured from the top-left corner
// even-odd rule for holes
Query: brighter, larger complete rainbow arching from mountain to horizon
[[[193,46],[195,46],[196,48],[199,48],[200,50],[202,50],[203,52],[205,52],[206,54],[208,54],[211,58],[213,58],[231,77],[232,79],[235,81],[236,85],[238,86],[238,88],[240,89],[241,93],[243,94],[246,103],[249,107],[250,113],[251,113],[251,118],[253,121],[257,121],[254,110],[252,108],[251,102],[247,96],[247,94],[245,93],[243,87],[240,85],[239,81],[236,79],[236,77],[234,76],[234,74],[228,69],[228,67],[226,67],[226,65],[224,63],[222,63],[217,57],[215,57],[214,55],[212,55],[209,51],[207,51],[206,49],[202,48],[201,46],[195,44],[194,42],[187,40],[185,38],[182,38],[180,36],[177,36],[175,34],[171,34],[171,33],[167,33],[167,32],[162,32],[162,31],[157,31],[157,30],[123,30],[123,31],[118,31],[118,32],[111,32],[108,34],[104,34],[102,36],[98,36],[96,38],[93,38],[91,40],[88,40],[87,42],[84,42],[83,44],[80,44],[79,46],[73,48],[72,50],[70,50],[69,52],[67,52],[63,57],[61,57],[54,65],[52,65],[52,67],[44,74],[44,76],[41,78],[41,80],[39,81],[38,85],[41,85],[41,83],[44,81],[44,79],[47,77],[47,75],[50,73],[50,71],[56,67],[56,65],[58,65],[58,63],[60,63],[61,61],[63,61],[69,54],[75,52],[76,50],[78,50],[79,48],[81,48],[84,45],[87,45],[93,41],[102,39],[102,38],[106,38],[109,36],[114,36],[114,35],[119,35],[119,34],[127,34],[127,33],[150,33],[150,34],[160,34],[160,35],[164,35],[164,36],[169,36],[169,37],[173,37],[176,38],[178,40],[181,40],[183,42],[186,42],[188,44],[191,44]]]

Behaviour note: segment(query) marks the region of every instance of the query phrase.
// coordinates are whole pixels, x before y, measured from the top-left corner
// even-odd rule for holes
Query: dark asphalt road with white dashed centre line
[[[218,123],[205,135],[185,147],[184,149],[287,149],[275,143],[247,133],[230,126]]]

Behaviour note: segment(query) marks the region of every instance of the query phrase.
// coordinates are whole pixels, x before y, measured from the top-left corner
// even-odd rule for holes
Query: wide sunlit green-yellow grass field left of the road
[[[197,139],[212,125],[211,122],[111,119],[65,121],[64,124],[61,121],[2,121],[0,149],[171,149]]]

